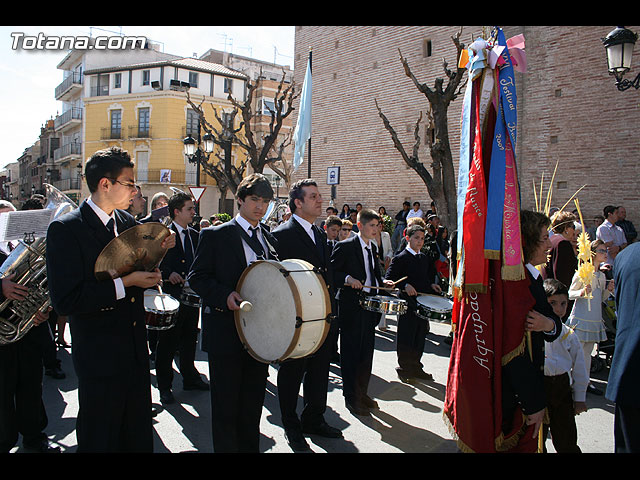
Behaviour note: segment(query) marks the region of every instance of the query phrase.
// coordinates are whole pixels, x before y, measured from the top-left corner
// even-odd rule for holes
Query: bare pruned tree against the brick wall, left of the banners
[[[460,57],[460,53],[465,48],[464,44],[460,42],[461,34],[462,27],[455,36],[451,37],[457,50],[456,63]],[[402,52],[400,52],[399,49],[398,53],[400,55],[400,62],[404,67],[405,75],[413,81],[418,91],[424,94],[429,102],[429,108],[427,110],[427,118],[429,120],[427,135],[429,136],[429,151],[431,154],[431,172],[425,167],[424,163],[420,161],[418,155],[422,112],[420,112],[420,116],[416,121],[414,128],[415,143],[411,154],[409,154],[402,145],[402,142],[400,142],[398,134],[392,127],[389,119],[379,107],[377,100],[375,101],[376,108],[378,109],[378,114],[385,128],[391,135],[396,150],[398,150],[405,163],[411,167],[425,183],[431,199],[436,204],[436,209],[442,223],[445,225],[454,225],[457,218],[456,179],[451,145],[449,142],[447,111],[449,104],[460,95],[466,85],[466,80],[463,82],[466,69],[457,67],[455,70],[451,70],[448,68],[447,61],[443,59],[442,66],[444,74],[448,79],[447,85],[444,87],[444,79],[436,78],[433,88],[430,88],[426,83],[420,83],[418,81],[411,71],[409,62],[402,56]]]

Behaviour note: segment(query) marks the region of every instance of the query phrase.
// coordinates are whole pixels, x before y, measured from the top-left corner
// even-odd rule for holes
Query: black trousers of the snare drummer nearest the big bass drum
[[[360,405],[367,395],[371,378],[375,328],[380,321],[380,314],[358,307],[355,310],[349,309],[349,313],[343,315],[344,308],[338,308],[342,392],[346,401]]]

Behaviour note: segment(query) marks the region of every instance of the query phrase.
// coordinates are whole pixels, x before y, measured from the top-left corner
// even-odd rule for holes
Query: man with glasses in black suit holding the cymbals
[[[143,292],[158,269],[97,280],[104,247],[137,224],[125,210],[137,189],[129,154],[113,147],[85,166],[90,197],[49,225],[47,275],[54,309],[69,317],[78,376],[78,452],[151,452],[151,385]],[[175,234],[162,242],[175,245]]]

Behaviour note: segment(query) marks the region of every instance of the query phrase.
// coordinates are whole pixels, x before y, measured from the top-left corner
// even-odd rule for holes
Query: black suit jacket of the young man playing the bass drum
[[[277,240],[260,224],[262,235],[277,249]],[[209,355],[231,355],[244,350],[227,297],[236,290],[247,268],[241,227],[235,218],[200,231],[189,286],[202,299],[202,349]]]

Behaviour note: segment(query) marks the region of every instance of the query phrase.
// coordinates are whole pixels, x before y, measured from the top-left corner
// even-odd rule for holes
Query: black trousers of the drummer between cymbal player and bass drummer
[[[181,304],[176,324],[168,330],[158,331],[156,345],[158,390],[169,390],[173,385],[173,359],[177,351],[180,351],[178,366],[183,384],[193,383],[200,378],[200,373],[195,367],[199,316],[199,308]]]

